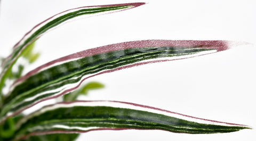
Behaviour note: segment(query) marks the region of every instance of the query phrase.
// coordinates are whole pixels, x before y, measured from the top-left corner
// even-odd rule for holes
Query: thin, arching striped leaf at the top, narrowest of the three
[[[127,4],[114,4],[114,5],[101,5],[101,6],[84,6],[75,9],[70,9],[59,14],[53,15],[51,18],[37,24],[13,47],[13,52],[2,63],[0,74],[0,90],[4,86],[5,79],[11,72],[11,68],[17,61],[18,57],[22,54],[25,48],[33,43],[37,38],[41,37],[46,31],[58,26],[59,24],[66,22],[70,19],[77,18],[81,15],[91,15],[99,13],[113,13],[117,11],[131,9],[143,5],[145,3],[127,3]],[[36,57],[36,56],[34,56]],[[0,101],[1,102],[1,101]]]

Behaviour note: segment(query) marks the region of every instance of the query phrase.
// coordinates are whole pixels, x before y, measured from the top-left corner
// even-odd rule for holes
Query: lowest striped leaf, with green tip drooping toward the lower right
[[[21,119],[18,122],[15,139],[44,134],[125,129],[213,134],[250,128],[233,123],[199,119],[134,103],[75,101],[46,106]]]

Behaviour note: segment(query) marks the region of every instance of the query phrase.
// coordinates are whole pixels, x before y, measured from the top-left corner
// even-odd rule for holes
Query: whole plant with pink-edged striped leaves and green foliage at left
[[[22,75],[23,66],[17,60],[23,57],[34,62],[39,55],[32,52],[34,42],[46,31],[78,16],[123,11],[143,4],[78,7],[53,15],[27,32],[1,65],[1,140],[74,140],[79,133],[92,130],[158,129],[214,134],[250,129],[129,102],[76,101],[90,87],[102,87],[98,82],[80,87],[88,78],[142,64],[225,51],[229,46],[223,40],[139,40],[111,44],[61,57]],[[12,71],[14,65],[19,66],[17,73]],[[13,84],[6,85],[7,80],[13,80]],[[6,87],[9,92],[4,93]],[[62,102],[22,114],[38,103],[61,96]]]

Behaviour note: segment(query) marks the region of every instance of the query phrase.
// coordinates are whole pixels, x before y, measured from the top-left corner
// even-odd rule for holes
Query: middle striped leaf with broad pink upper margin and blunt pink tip
[[[67,94],[85,79],[102,73],[225,49],[228,49],[227,42],[220,40],[141,40],[71,54],[46,63],[18,79],[5,98],[1,121],[46,99]]]

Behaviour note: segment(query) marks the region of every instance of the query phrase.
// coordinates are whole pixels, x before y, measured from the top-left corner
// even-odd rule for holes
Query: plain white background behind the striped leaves
[[[194,117],[256,128],[255,1],[2,0],[0,56],[37,23],[87,5],[147,2],[123,12],[68,22],[36,42],[43,62],[84,49],[141,39],[235,40],[251,43],[225,52],[148,64],[88,81],[106,85],[81,99],[127,101]],[[254,44],[254,45],[253,45]],[[33,67],[32,67],[33,68]],[[79,140],[255,140],[254,130],[189,135],[159,130],[92,131]]]

